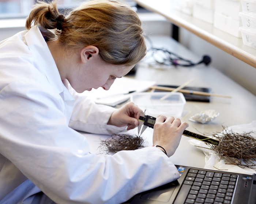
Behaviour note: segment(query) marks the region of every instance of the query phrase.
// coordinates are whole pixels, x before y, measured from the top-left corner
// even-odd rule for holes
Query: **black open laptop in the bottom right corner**
[[[256,204],[256,174],[176,167],[178,180],[137,194],[131,204]]]

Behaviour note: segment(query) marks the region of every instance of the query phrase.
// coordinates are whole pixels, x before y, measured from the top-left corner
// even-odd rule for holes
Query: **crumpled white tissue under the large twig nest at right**
[[[248,124],[230,126],[227,128],[227,130],[232,130],[233,132],[236,132],[236,133],[244,133],[244,132],[251,132],[251,131],[256,132],[256,121],[252,121],[251,123],[248,123]],[[253,137],[256,137],[256,133],[252,133],[251,135]],[[224,159],[220,160],[217,154],[213,150],[209,149],[210,147],[202,141],[192,139],[192,140],[189,140],[189,143],[196,146],[200,150],[202,150],[203,153],[205,154],[206,164],[204,168],[206,169],[225,170],[227,172],[245,173],[245,174],[256,173],[256,167],[255,169],[240,168],[239,166],[236,166],[236,165],[225,164],[226,161]]]

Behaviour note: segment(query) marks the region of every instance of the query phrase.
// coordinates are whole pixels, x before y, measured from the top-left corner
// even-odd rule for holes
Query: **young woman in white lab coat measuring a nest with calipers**
[[[133,103],[117,110],[79,95],[108,90],[145,56],[136,12],[93,0],[64,16],[56,1],[39,3],[26,28],[0,42],[1,204],[122,203],[179,177],[169,157],[188,126],[180,119],[157,117],[153,144],[161,147],[113,156],[90,154],[75,131],[138,126]]]

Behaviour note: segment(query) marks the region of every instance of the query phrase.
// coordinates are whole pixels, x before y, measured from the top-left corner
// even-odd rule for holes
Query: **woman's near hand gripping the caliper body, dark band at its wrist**
[[[166,150],[167,156],[172,156],[187,127],[188,123],[181,123],[179,118],[175,119],[173,116],[167,118],[164,115],[159,115],[154,124],[153,145],[162,146]]]

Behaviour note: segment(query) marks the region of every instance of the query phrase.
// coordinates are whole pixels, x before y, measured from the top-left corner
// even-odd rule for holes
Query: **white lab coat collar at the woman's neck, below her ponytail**
[[[42,28],[41,26],[33,26],[30,28],[30,30],[25,34],[27,46],[40,63],[40,67],[37,67],[38,70],[45,74],[50,85],[52,85],[57,93],[62,93],[61,95],[63,95],[64,101],[73,101],[74,98],[61,81],[59,70],[42,35],[47,32],[50,34],[50,31]]]

